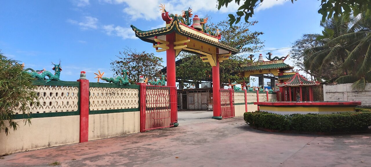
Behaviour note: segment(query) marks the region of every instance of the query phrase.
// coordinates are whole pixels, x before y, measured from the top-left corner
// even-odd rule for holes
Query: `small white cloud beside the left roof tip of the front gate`
[[[102,27],[105,33],[109,36],[115,35],[122,37],[122,39],[137,39],[135,33],[131,28],[125,28],[121,26],[116,26],[114,24],[105,25]]]

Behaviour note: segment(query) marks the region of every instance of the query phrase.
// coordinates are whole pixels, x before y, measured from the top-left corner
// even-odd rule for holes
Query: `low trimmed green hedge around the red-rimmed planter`
[[[351,132],[367,130],[371,126],[371,112],[280,115],[255,111],[244,113],[244,120],[250,126],[271,130]]]

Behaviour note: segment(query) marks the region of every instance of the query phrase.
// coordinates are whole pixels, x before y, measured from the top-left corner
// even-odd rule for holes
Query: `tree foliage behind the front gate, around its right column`
[[[254,52],[263,47],[263,45],[261,45],[263,44],[263,41],[259,39],[259,35],[263,34],[263,32],[249,30],[249,27],[256,23],[257,21],[253,21],[236,24],[230,27],[227,20],[224,20],[217,24],[209,25],[213,31],[216,31],[217,29],[220,30],[220,43],[231,47],[242,46],[240,54],[235,54],[228,60],[224,60],[220,63],[220,83],[231,83],[233,81],[239,83],[243,80],[246,80],[246,83],[249,82],[247,78],[236,76],[235,71],[238,71],[240,65],[252,62],[247,59],[247,56],[242,54],[243,52]],[[178,67],[176,67],[176,73],[177,77],[182,79],[181,81],[184,80],[184,82],[197,84],[200,81],[212,78],[210,64],[202,62],[200,56],[182,51],[180,53],[180,58],[182,59],[182,62]]]

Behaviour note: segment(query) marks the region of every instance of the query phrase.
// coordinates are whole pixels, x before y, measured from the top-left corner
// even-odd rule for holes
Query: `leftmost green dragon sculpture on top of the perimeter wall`
[[[43,80],[46,82],[50,82],[50,81],[60,81],[59,77],[60,77],[60,71],[62,71],[62,68],[60,67],[60,61],[59,61],[59,64],[54,64],[52,62],[52,64],[54,65],[53,67],[53,70],[54,70],[54,74],[52,74],[50,71],[47,71],[47,70],[33,70],[31,68],[27,68],[24,70],[24,72],[28,73],[31,75],[31,77],[33,78],[36,78],[38,80]],[[31,72],[29,72],[31,71]],[[45,79],[45,77],[48,77],[48,79]]]

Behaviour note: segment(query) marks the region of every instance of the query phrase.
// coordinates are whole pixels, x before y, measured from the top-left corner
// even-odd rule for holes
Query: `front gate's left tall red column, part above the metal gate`
[[[167,86],[176,86],[175,85],[175,50],[174,50],[175,32],[171,34],[167,34],[166,41],[169,42],[169,44],[167,45],[169,49],[166,50]]]

